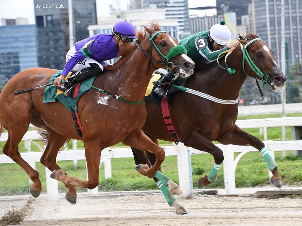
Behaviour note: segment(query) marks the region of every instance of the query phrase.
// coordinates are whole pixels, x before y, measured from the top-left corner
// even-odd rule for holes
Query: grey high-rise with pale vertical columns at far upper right
[[[253,0],[255,33],[275,52],[281,66],[281,0]],[[302,1],[284,0],[285,42],[289,65],[302,62]]]

